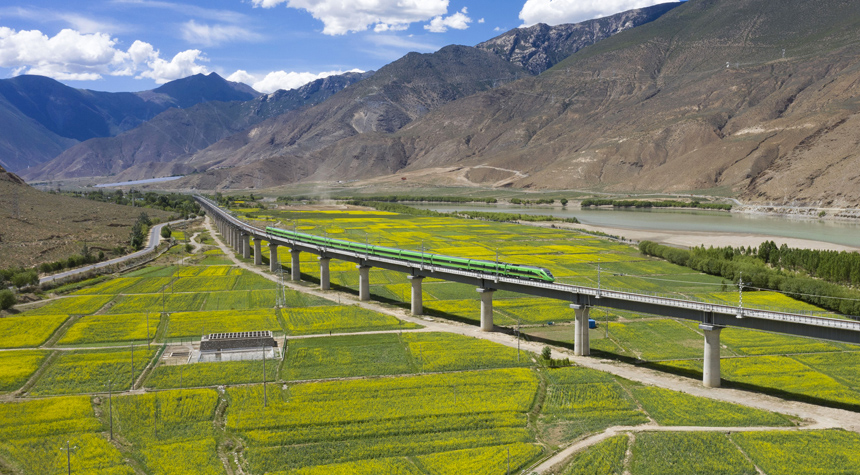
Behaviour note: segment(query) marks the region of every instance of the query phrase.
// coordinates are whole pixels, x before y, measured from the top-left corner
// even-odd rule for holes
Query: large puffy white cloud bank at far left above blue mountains
[[[127,51],[116,43],[105,33],[65,29],[48,37],[38,30],[0,27],[0,67],[58,80],[92,81],[105,75],[137,74],[137,78],[151,78],[158,84],[208,72],[199,64],[206,61],[200,50],[183,51],[167,61],[149,43],[135,41]]]

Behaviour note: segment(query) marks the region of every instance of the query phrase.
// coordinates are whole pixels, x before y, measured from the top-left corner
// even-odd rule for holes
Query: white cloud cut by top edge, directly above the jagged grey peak
[[[535,23],[560,25],[649,7],[666,0],[526,0],[520,11],[524,26]]]

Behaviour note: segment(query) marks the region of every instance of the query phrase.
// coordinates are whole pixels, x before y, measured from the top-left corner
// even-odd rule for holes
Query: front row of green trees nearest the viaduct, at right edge
[[[774,247],[771,244],[773,243],[762,244],[755,251],[751,248],[705,249],[704,246],[685,250],[642,241],[639,244],[639,250],[643,254],[660,257],[674,264],[720,276],[732,282],[737,282],[743,277],[745,285],[750,287],[784,292],[798,300],[834,312],[860,315],[860,291],[771,267],[767,261],[759,258],[759,253],[770,257]],[[741,249],[743,251],[740,251]]]

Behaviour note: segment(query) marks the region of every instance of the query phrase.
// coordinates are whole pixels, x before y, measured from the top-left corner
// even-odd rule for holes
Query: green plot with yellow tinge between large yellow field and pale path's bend
[[[549,387],[540,420],[544,433],[557,442],[614,425],[638,425],[648,418],[609,374],[586,368],[547,371]]]

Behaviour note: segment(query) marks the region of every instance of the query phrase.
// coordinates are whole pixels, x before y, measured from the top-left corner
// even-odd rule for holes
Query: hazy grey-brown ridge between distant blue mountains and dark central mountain
[[[372,73],[346,73],[317,79],[298,89],[276,91],[249,101],[209,101],[188,108],[171,108],[152,120],[115,137],[90,139],[60,154],[56,159],[23,173],[30,181],[88,176],[112,176],[124,181],[153,176],[194,173],[177,158],[189,156],[219,140],[289,110],[324,101],[341,89],[370,77]],[[192,87],[174,81],[155,92],[168,92],[187,101]],[[214,94],[204,95],[212,97]],[[222,96],[224,99],[228,97]]]

